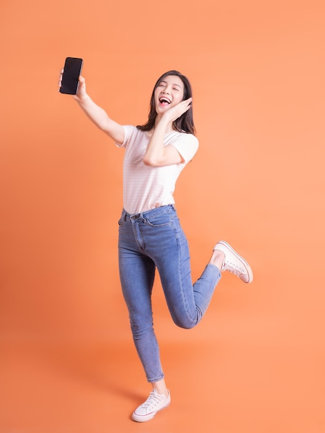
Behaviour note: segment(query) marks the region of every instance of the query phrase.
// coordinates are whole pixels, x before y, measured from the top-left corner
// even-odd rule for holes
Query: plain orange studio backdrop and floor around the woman
[[[324,2],[2,1],[1,433],[324,433]],[[156,332],[172,404],[150,387],[117,266],[122,151],[57,92],[66,56],[112,118],[147,118],[158,76],[194,88],[201,147],[176,203],[197,278],[219,239],[254,282],[224,275],[192,331]]]

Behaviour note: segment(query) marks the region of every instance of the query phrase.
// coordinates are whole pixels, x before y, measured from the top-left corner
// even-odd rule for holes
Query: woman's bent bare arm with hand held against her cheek
[[[191,107],[192,98],[182,101],[175,107],[172,107],[161,116],[149,140],[143,162],[145,165],[152,167],[163,167],[165,165],[174,165],[184,162],[173,145],[164,146],[164,137],[169,125],[182,116],[185,111]]]

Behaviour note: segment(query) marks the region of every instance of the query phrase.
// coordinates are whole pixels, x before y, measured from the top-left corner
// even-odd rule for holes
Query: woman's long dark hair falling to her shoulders
[[[145,125],[138,125],[137,128],[141,131],[150,131],[154,128],[155,122],[156,122],[156,104],[155,104],[155,90],[158,87],[158,84],[165,80],[166,77],[169,75],[176,75],[177,77],[180,77],[180,80],[182,80],[184,84],[184,95],[183,100],[187,100],[188,98],[192,98],[192,86],[189,83],[189,80],[185,75],[181,74],[178,71],[168,71],[165,72],[161,77],[157,80],[154,90],[152,91],[151,100],[150,100],[150,112],[148,116],[147,123]],[[173,122],[173,128],[175,131],[179,132],[186,132],[186,133],[193,133],[195,134],[196,130],[194,127],[194,121],[193,121],[193,108],[191,104],[191,108],[185,111],[185,113],[182,114],[178,119],[174,120]]]

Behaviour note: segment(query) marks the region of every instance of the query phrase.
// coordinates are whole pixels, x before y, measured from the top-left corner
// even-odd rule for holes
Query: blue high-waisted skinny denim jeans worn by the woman
[[[174,205],[133,215],[123,210],[118,223],[120,280],[133,341],[148,382],[157,382],[164,374],[151,309],[156,268],[171,317],[185,329],[202,319],[221,273],[208,264],[192,284],[188,243]]]

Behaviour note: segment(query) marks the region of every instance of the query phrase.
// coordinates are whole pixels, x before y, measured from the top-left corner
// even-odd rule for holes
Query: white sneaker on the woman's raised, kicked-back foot
[[[253,281],[253,273],[250,265],[225,241],[219,241],[214,250],[222,251],[225,255],[221,270],[229,270],[244,283]]]

